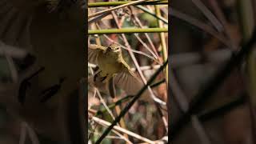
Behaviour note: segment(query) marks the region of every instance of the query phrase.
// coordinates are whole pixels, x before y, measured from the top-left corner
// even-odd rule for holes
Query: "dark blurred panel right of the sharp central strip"
[[[255,8],[254,0],[170,2],[171,142],[256,142],[254,52],[235,59],[253,33]]]

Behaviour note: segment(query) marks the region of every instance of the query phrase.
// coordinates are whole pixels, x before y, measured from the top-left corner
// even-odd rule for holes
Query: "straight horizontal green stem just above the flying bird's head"
[[[88,30],[88,34],[129,34],[129,33],[161,33],[168,32],[167,28],[145,28],[145,29],[108,29],[108,30]]]

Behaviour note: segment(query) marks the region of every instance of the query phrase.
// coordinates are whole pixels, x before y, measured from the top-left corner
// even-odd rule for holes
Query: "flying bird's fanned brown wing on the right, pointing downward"
[[[128,66],[126,62],[122,62],[122,64],[123,70],[114,77],[114,83],[122,90],[125,90],[126,94],[137,94],[138,90],[141,90],[144,84],[136,74],[130,70],[130,66]]]

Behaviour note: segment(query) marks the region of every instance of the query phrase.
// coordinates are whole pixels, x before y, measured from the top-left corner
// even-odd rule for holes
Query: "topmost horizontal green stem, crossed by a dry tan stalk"
[[[91,2],[88,3],[88,7],[103,7],[103,6],[120,6],[133,1],[126,2]],[[167,5],[168,1],[157,1],[157,2],[142,2],[136,5]]]

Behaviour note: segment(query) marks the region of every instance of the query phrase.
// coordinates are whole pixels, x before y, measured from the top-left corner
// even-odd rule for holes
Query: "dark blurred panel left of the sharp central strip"
[[[1,144],[82,143],[86,120],[78,106],[85,98],[78,90],[86,77],[84,5],[0,1]]]

